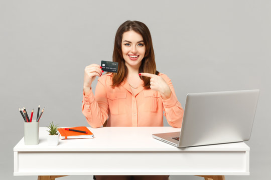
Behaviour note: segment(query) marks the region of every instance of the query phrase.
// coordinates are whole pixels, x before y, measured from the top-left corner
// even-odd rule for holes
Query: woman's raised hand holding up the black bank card
[[[90,64],[85,67],[85,75],[84,75],[84,90],[91,88],[91,83],[95,79],[96,76],[101,76],[103,70],[101,66],[98,64]],[[85,93],[87,93],[85,91]]]

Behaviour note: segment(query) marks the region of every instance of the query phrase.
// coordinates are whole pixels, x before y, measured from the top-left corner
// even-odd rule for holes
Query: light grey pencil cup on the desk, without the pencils
[[[25,145],[39,144],[40,122],[25,122]]]

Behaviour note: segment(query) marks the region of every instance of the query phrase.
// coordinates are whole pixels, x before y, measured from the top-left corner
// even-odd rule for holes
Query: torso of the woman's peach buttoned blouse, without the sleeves
[[[159,75],[166,81],[169,80],[167,75]],[[106,88],[107,92],[109,118],[106,126],[163,126],[163,102],[160,92],[145,89],[142,85],[132,91],[127,80],[119,86],[112,87],[111,79],[112,73],[98,78],[103,85],[101,87]],[[99,89],[96,87],[97,91]],[[95,98],[99,99],[97,96]]]

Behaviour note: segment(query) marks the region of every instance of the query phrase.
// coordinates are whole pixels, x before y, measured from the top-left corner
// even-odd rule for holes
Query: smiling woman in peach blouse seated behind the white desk
[[[106,73],[98,64],[85,67],[82,112],[91,127],[163,126],[181,127],[183,108],[172,82],[156,70],[150,30],[140,21],[125,21],[115,35],[113,61],[117,73]],[[98,78],[93,95],[91,83]],[[96,176],[100,179],[168,179],[157,176]]]

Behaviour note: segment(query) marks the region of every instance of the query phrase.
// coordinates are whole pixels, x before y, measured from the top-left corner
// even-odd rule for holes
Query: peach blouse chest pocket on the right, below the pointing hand
[[[155,90],[146,90],[144,91],[145,96],[145,112],[157,112],[157,103],[158,98],[161,97],[160,93]]]

